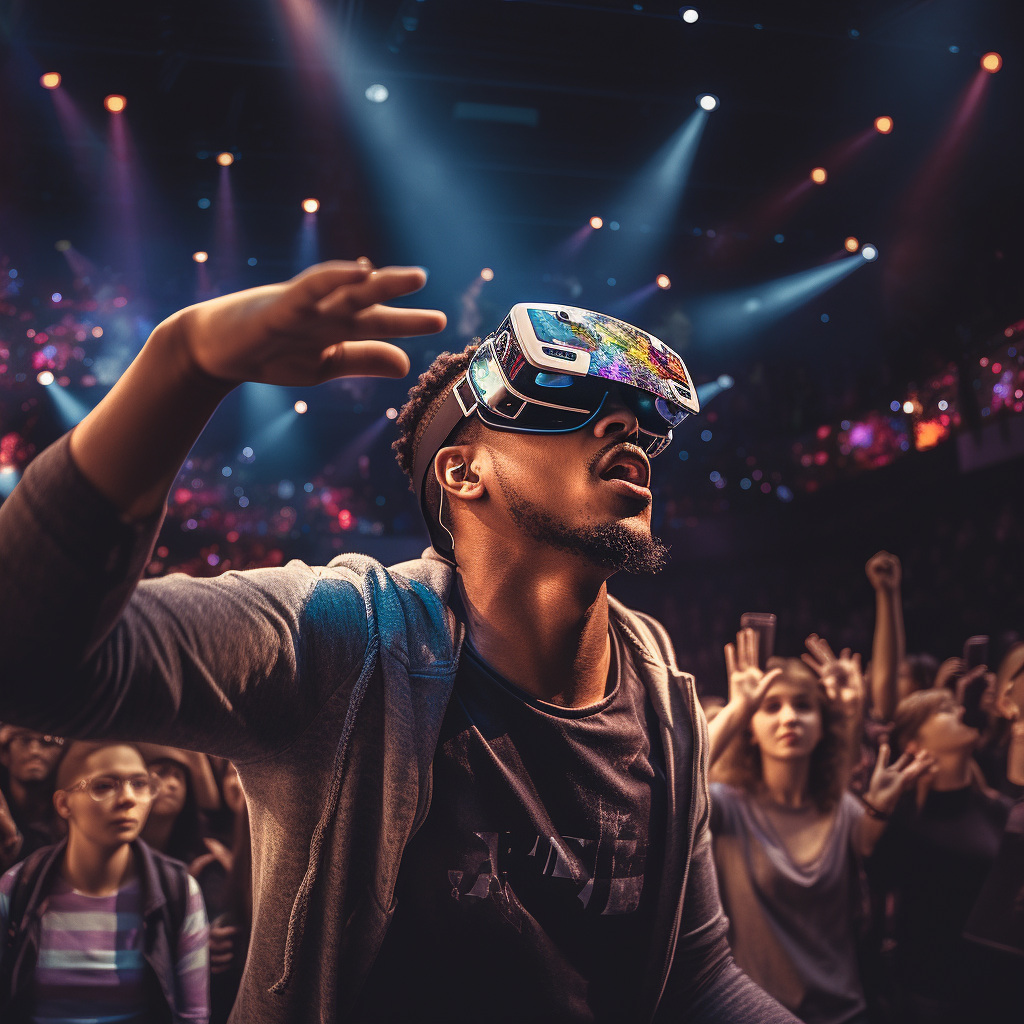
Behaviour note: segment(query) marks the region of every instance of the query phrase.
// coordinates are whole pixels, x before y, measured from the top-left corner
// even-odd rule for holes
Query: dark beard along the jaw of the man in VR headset
[[[653,535],[638,534],[624,522],[572,526],[523,498],[504,473],[497,475],[512,521],[535,541],[624,572],[660,572],[668,564],[669,549]]]

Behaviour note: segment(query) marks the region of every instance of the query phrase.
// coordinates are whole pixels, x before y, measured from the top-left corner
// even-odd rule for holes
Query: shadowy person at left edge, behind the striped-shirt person
[[[53,771],[63,739],[0,726],[0,868],[63,835],[53,810]]]

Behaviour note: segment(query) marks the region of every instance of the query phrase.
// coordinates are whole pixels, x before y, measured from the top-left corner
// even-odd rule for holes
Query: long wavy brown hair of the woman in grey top
[[[797,657],[771,657],[769,669],[781,669],[781,680],[813,695],[821,716],[821,738],[811,752],[810,797],[819,811],[831,810],[846,788],[851,753],[842,709],[828,699],[817,676]],[[761,748],[749,728],[737,733],[713,770],[714,780],[753,793],[761,781]]]

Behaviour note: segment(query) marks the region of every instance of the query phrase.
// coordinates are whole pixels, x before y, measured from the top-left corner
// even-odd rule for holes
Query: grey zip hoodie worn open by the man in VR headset
[[[390,568],[343,555],[140,583],[161,519],[124,522],[67,436],[28,468],[0,507],[0,720],[234,762],[253,930],[231,1020],[342,1021],[430,805],[462,643],[454,568],[430,552]],[[792,1021],[729,955],[693,679],[656,623],[609,604],[657,713],[669,783],[658,953],[636,1019]]]

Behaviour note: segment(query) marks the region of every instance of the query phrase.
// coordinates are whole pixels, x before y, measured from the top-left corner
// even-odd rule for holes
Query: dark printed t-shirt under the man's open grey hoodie
[[[629,1019],[649,955],[666,779],[654,711],[614,631],[612,651],[607,695],[572,710],[463,647],[430,811],[406,848],[355,1020]]]

